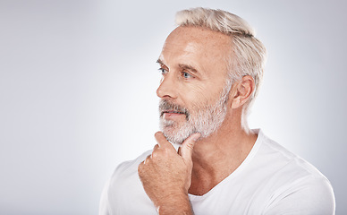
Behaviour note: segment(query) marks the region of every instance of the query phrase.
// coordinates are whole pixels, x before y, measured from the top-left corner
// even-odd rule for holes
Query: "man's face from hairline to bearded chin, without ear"
[[[207,137],[222,125],[231,46],[228,36],[197,27],[179,27],[166,39],[157,95],[161,130],[170,142],[182,143],[192,133]]]

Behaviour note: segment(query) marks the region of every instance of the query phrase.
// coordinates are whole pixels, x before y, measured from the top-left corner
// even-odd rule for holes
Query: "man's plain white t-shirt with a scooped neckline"
[[[334,214],[329,181],[261,131],[248,157],[208,193],[189,194],[196,215]],[[138,176],[138,166],[151,153],[123,162],[104,188],[100,215],[157,214]]]

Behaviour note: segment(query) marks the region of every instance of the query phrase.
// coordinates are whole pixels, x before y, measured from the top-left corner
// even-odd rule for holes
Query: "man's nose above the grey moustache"
[[[164,98],[176,99],[177,98],[177,83],[174,80],[172,73],[167,73],[163,77],[157,89],[157,96],[161,99],[164,99]]]

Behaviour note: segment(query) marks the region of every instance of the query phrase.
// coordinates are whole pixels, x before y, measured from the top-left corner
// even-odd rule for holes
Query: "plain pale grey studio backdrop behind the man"
[[[347,214],[345,1],[0,0],[0,214],[97,214],[156,143],[156,60],[178,10],[236,13],[268,50],[253,128],[309,160]]]

